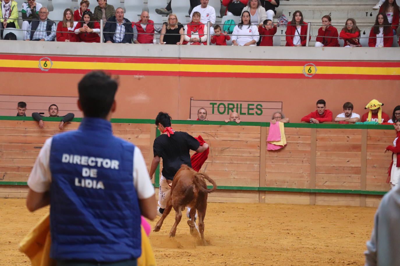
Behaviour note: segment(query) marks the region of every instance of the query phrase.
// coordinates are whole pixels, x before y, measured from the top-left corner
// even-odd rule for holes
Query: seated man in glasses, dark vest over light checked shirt
[[[26,41],[54,41],[56,38],[56,24],[47,18],[48,15],[47,8],[40,8],[40,20],[32,20],[25,35]]]

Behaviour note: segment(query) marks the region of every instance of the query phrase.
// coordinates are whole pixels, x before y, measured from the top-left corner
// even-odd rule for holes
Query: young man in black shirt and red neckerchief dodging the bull
[[[192,167],[189,150],[204,152],[207,150],[208,144],[204,143],[203,146],[200,146],[198,140],[188,133],[173,130],[171,128],[171,117],[167,113],[158,113],[156,126],[162,134],[154,140],[154,158],[150,167],[150,178],[153,178],[160,158],[162,158],[162,175],[158,195],[159,208],[157,210],[157,214],[161,216],[170,195],[171,187],[169,184],[172,183],[175,173],[182,164]]]

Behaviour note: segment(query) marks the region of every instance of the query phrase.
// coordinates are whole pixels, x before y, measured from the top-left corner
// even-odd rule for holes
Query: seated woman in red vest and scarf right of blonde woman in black
[[[192,21],[184,27],[185,37],[183,39],[183,44],[207,44],[207,26],[200,22],[200,16],[200,12],[194,12],[192,15]]]

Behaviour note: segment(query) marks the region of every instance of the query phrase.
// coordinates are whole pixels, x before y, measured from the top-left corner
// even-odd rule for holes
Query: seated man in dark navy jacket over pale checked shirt
[[[131,43],[132,33],[132,24],[127,18],[124,18],[124,10],[117,8],[115,16],[109,18],[104,26],[104,42]]]

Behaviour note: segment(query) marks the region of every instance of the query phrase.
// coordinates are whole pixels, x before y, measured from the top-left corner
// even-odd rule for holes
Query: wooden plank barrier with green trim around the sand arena
[[[60,133],[58,122],[44,118],[45,128],[39,129],[30,117],[0,120],[0,197],[25,197],[34,161],[46,138]],[[78,128],[79,122],[75,118],[65,130]],[[200,170],[218,185],[209,201],[377,206],[390,188],[391,154],[384,149],[393,144],[392,126],[285,124],[287,146],[268,151],[269,123],[172,123],[175,130],[201,135],[210,144]],[[114,119],[112,128],[142,150],[150,168],[152,144],[160,134],[154,120]],[[155,187],[159,178],[158,169]]]

